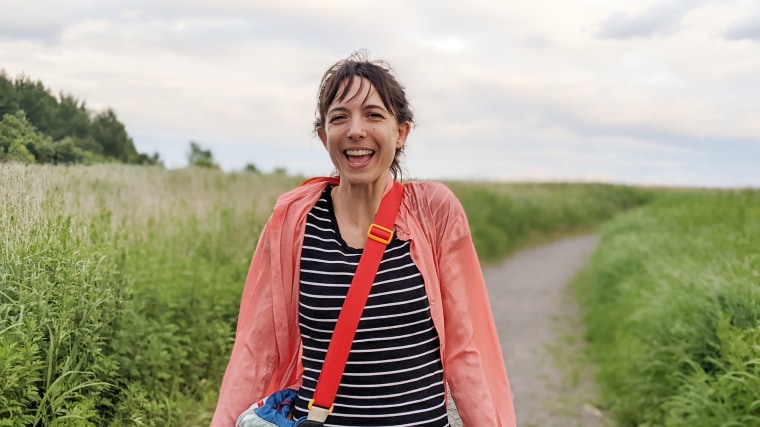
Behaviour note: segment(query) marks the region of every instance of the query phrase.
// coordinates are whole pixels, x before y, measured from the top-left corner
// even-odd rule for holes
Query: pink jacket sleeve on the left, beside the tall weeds
[[[233,427],[237,417],[265,396],[278,363],[271,277],[271,218],[262,230],[240,302],[237,331],[212,427]]]

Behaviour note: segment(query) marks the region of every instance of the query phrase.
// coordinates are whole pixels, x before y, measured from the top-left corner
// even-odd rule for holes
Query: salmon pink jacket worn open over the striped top
[[[301,384],[299,259],[306,215],[326,182],[282,196],[259,238],[212,427],[234,427],[253,402]],[[388,180],[385,191],[391,188]],[[441,342],[444,378],[465,426],[514,427],[515,413],[485,281],[464,210],[443,184],[411,182],[396,218],[411,240]]]

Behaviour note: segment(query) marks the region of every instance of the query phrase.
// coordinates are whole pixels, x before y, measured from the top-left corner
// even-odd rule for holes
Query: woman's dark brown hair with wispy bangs
[[[383,101],[383,106],[393,114],[397,122],[414,124],[414,114],[406,100],[404,87],[396,80],[390,65],[382,60],[370,60],[365,51],[358,51],[352,53],[348,58],[336,62],[322,76],[317,94],[314,131],[324,128],[327,109],[330,108],[333,101],[336,99],[342,101],[351,93],[354,83],[353,77],[355,76],[366,79],[377,90],[380,99]],[[340,85],[344,81],[347,81],[347,84],[341,91]],[[359,84],[362,84],[361,80]],[[396,149],[396,155],[390,167],[394,179],[401,177],[400,157],[403,151],[403,147]]]

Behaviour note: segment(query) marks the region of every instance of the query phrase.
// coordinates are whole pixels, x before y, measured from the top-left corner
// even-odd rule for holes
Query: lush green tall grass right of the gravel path
[[[760,191],[618,217],[578,285],[621,426],[760,426]]]

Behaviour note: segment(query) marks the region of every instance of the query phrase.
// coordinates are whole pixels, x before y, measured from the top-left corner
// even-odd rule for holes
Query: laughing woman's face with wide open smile
[[[317,133],[341,181],[355,185],[385,183],[396,149],[406,142],[411,125],[398,123],[366,79],[353,77],[350,92],[327,108]],[[340,94],[346,82],[341,83]]]

